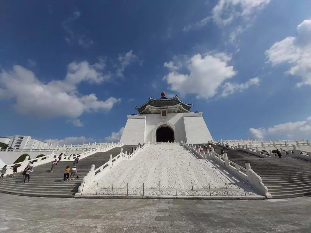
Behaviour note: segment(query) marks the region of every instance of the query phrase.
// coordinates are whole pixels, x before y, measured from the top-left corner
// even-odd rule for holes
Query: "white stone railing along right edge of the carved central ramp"
[[[186,142],[181,142],[185,148],[194,152],[201,159],[213,159],[222,166],[225,166],[229,171],[237,175],[239,178],[246,181],[250,186],[255,187],[260,193],[264,194],[266,198],[272,198],[272,195],[269,194],[267,187],[262,183],[262,179],[253,171],[249,163],[245,163],[245,167],[242,167],[228,159],[227,153],[220,155],[214,151],[214,148],[211,148],[211,151],[205,153],[205,151],[200,152],[200,150],[193,145],[189,145]],[[225,144],[224,144],[225,145]]]

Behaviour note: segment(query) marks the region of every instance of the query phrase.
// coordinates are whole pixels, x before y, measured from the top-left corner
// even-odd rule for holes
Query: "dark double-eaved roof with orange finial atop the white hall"
[[[160,99],[149,97],[148,101],[142,106],[137,106],[135,109],[138,114],[156,114],[160,113],[161,109],[167,109],[168,113],[190,112],[193,104],[183,103],[175,95],[173,98],[166,98],[165,93]]]

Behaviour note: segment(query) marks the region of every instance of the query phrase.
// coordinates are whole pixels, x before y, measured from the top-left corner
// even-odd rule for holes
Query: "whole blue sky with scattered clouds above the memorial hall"
[[[310,138],[310,1],[0,9],[1,136],[118,140],[134,107],[165,91],[203,112],[214,139]]]

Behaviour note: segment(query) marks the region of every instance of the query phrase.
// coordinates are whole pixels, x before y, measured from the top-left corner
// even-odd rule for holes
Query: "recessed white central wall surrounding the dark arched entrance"
[[[153,129],[160,122],[169,122],[175,126],[175,141],[185,141],[185,127],[183,124],[184,113],[168,113],[167,117],[162,118],[160,114],[145,114],[146,116],[146,142],[153,142]]]

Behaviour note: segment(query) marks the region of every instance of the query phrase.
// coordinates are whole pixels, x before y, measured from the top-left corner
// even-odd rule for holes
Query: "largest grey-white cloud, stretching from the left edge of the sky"
[[[16,111],[41,117],[65,116],[75,119],[85,111],[109,111],[121,101],[120,98],[110,97],[101,101],[95,94],[81,95],[77,90],[77,85],[83,81],[101,83],[109,79],[102,69],[98,69],[99,64],[72,62],[68,65],[64,80],[48,83],[40,81],[32,71],[14,65],[12,71],[0,72],[0,85],[3,87],[0,98],[15,99]]]

